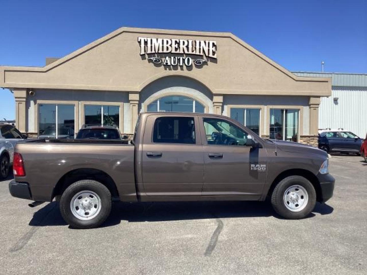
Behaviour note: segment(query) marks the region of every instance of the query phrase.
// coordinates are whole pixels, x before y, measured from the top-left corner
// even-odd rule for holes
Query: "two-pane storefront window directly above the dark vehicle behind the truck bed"
[[[84,105],[84,124],[120,125],[120,107],[113,105]]]

